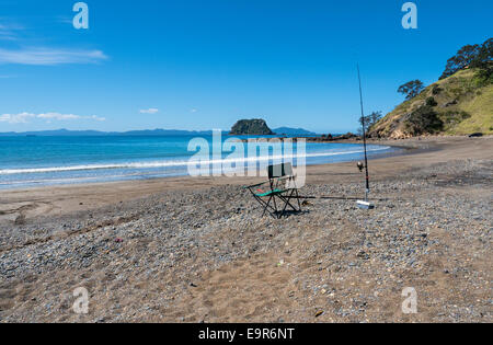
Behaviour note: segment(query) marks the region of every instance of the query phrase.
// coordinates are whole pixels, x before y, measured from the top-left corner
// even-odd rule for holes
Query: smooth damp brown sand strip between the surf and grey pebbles
[[[401,140],[370,139],[370,143],[399,148],[397,152],[381,153],[370,160],[370,180],[378,181],[403,172],[417,163],[416,157],[429,160],[434,154],[444,154],[468,142],[493,142],[493,137],[427,137]],[[347,142],[347,140],[345,140]],[[474,150],[469,150],[474,151]],[[454,152],[450,152],[454,154]],[[474,154],[468,152],[465,157]],[[395,166],[400,162],[402,166]],[[354,161],[307,165],[307,184],[321,183],[328,179],[339,182],[357,182],[363,179]],[[204,189],[211,186],[248,185],[265,177],[227,176],[177,176],[149,180],[130,180],[76,185],[36,186],[4,189],[0,194],[0,223],[24,221],[37,216],[60,216],[73,211],[88,211],[112,204],[148,197],[164,191]],[[362,180],[363,181],[363,180]]]

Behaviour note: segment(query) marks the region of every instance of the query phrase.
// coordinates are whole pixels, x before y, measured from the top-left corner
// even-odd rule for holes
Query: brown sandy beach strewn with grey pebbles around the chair
[[[279,220],[259,177],[2,191],[0,321],[492,322],[493,137],[372,143],[406,148],[370,161],[374,210],[355,162],[308,166],[325,198]]]

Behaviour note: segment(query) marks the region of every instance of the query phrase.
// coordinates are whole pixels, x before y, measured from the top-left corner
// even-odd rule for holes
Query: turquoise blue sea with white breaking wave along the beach
[[[210,145],[211,152],[213,137],[202,138],[202,142]],[[187,175],[187,163],[197,153],[188,150],[192,139],[191,136],[0,137],[0,188]],[[223,147],[225,140],[233,138],[223,136],[215,146]],[[299,148],[295,143],[293,153],[301,153]],[[231,150],[240,151],[230,148],[219,157],[210,154],[210,163],[216,163],[210,166],[217,166],[221,160],[231,161]],[[369,146],[368,150],[371,157],[393,149]],[[305,152],[307,165],[333,163],[362,159],[363,146],[307,142]],[[283,154],[284,161],[298,163],[288,151]],[[260,166],[273,162],[273,158],[276,158],[273,150],[259,149],[248,161],[256,161]],[[241,163],[236,160],[230,165]]]

